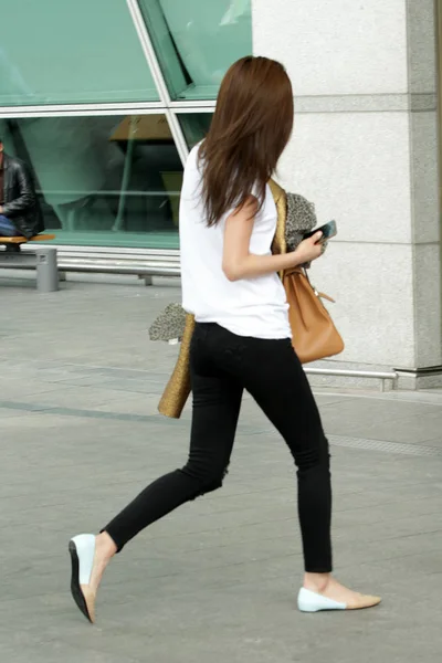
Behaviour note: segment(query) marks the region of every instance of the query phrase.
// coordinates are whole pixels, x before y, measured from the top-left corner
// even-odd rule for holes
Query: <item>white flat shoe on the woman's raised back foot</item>
[[[95,621],[95,594],[90,589],[95,557],[95,535],[80,534],[70,540],[69,551],[72,562],[72,597],[91,623]]]

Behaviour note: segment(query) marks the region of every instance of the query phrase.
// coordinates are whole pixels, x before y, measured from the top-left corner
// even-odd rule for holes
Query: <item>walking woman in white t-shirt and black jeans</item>
[[[320,233],[272,255],[276,207],[269,180],[293,128],[284,67],[244,57],[227,73],[207,138],[191,151],[180,204],[183,307],[192,313],[193,394],[187,464],[147,486],[97,536],[70,541],[72,593],[92,622],[103,572],[141,529],[222,485],[243,390],[284,438],[297,466],[305,576],[302,611],[369,608],[332,576],[328,443],[307,378],[292,347],[278,273],[316,260]]]

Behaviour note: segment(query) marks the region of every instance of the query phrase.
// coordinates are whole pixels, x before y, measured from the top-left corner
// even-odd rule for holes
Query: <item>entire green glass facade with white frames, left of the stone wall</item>
[[[56,243],[178,249],[183,162],[252,51],[251,0],[0,0],[4,15],[0,137]]]

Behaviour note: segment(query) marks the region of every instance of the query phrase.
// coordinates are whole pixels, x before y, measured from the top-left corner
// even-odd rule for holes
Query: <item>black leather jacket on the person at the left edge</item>
[[[3,214],[27,239],[44,230],[43,214],[28,166],[3,155]]]

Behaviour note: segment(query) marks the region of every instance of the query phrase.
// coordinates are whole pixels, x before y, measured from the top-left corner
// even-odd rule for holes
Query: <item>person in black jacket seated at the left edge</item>
[[[4,154],[0,138],[0,236],[29,240],[43,230],[43,214],[28,167]]]

